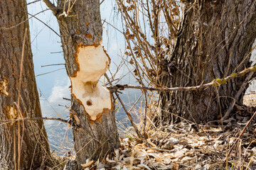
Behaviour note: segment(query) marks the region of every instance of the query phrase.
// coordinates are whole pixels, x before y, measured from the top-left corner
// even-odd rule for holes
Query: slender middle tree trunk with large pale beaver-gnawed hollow
[[[78,164],[86,159],[101,159],[118,148],[119,135],[114,120],[112,96],[98,81],[110,66],[110,57],[100,45],[102,23],[100,1],[76,1],[70,13],[68,3],[58,1],[68,16],[58,18],[65,66],[71,81],[71,112],[75,125],[73,134]],[[49,5],[50,4],[50,5]]]

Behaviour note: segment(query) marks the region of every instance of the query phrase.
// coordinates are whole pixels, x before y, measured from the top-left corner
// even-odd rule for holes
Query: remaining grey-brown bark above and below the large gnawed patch
[[[58,8],[63,8],[63,2],[62,0],[58,1]],[[68,4],[66,4],[65,11],[67,6]],[[68,17],[60,13],[63,11],[58,11],[55,16],[57,16],[60,26],[65,66],[68,76],[76,77],[76,73],[79,71],[78,47],[97,46],[102,40],[100,1],[76,1]],[[85,75],[85,77],[87,76],[90,75]],[[71,110],[74,121],[79,121],[79,123],[76,121],[73,126],[78,164],[85,164],[88,158],[101,159],[120,146],[113,111],[102,114],[101,118],[92,121],[85,113],[82,103],[73,94]]]

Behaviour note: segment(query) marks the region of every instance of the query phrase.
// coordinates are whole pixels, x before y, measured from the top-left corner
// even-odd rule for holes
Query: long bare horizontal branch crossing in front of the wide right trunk
[[[124,90],[124,89],[141,89],[141,90],[149,90],[149,91],[193,91],[193,90],[198,90],[198,89],[206,89],[210,86],[220,86],[221,84],[225,84],[226,82],[230,81],[231,79],[235,79],[237,77],[242,77],[245,74],[249,72],[255,72],[256,71],[256,65],[253,67],[249,67],[247,69],[242,70],[242,72],[238,73],[233,73],[230,74],[228,77],[225,77],[223,79],[214,79],[208,84],[201,84],[199,86],[188,86],[188,87],[171,87],[171,88],[166,88],[166,87],[149,87],[149,86],[135,86],[135,85],[130,85],[130,84],[117,84],[115,86],[109,86],[107,87],[111,91],[113,90]]]

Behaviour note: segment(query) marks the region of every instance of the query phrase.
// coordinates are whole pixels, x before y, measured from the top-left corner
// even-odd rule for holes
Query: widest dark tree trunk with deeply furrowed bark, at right
[[[255,1],[186,1],[176,47],[164,65],[160,84],[167,87],[196,86],[250,67],[256,37]],[[167,74],[166,74],[167,73]],[[197,123],[224,115],[245,77],[220,87],[198,91],[161,93],[161,123],[183,118]],[[242,90],[237,103],[242,104]],[[220,112],[221,111],[221,112]]]

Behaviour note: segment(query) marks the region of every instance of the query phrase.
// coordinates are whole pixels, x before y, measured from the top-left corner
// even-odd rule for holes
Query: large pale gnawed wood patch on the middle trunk
[[[98,83],[110,67],[110,57],[102,45],[78,47],[79,70],[76,77],[70,77],[72,93],[82,102],[91,120],[112,108],[110,91]]]

